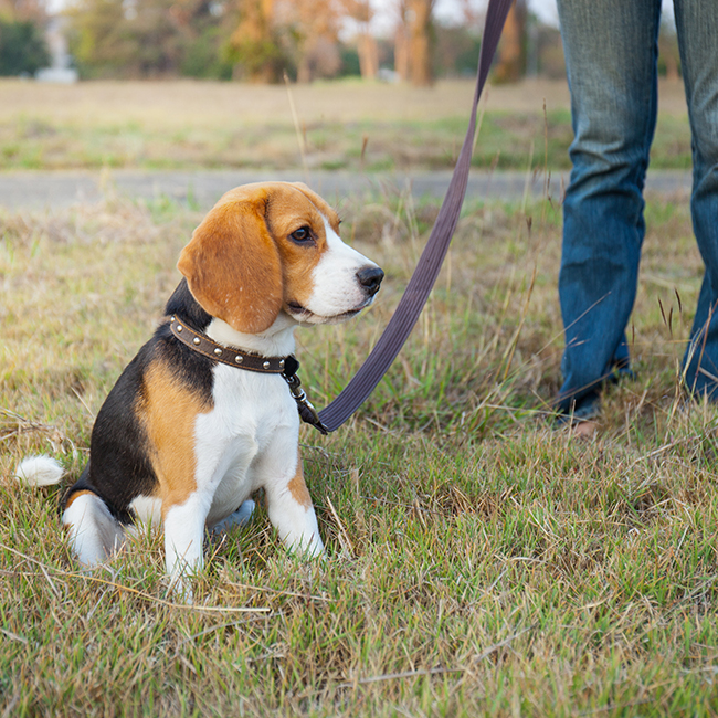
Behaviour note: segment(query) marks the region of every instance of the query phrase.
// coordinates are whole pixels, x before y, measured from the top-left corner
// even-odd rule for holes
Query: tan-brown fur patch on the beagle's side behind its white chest
[[[212,410],[212,401],[180,383],[160,360],[147,369],[136,409],[149,439],[148,453],[159,483],[163,517],[197,488],[194,421],[198,414]]]

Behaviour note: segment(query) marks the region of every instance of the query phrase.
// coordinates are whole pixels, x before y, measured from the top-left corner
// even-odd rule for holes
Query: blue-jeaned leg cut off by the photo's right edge
[[[675,0],[693,134],[693,226],[706,273],[685,357],[687,389],[718,400],[718,2]]]

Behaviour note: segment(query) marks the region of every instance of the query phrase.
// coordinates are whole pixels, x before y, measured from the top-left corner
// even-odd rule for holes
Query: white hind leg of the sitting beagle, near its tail
[[[112,556],[123,543],[122,525],[109,513],[105,501],[92,492],[77,492],[70,497],[62,522],[70,543],[83,566],[95,566]]]

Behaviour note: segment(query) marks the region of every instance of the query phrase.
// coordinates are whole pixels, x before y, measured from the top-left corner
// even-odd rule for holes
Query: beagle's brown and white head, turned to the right
[[[337,213],[306,184],[230,190],[177,264],[194,298],[244,334],[285,312],[299,324],[347,319],[369,306],[383,272],[339,239]]]

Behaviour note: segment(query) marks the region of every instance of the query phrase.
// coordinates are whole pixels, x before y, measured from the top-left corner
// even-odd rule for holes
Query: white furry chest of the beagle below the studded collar
[[[296,464],[299,418],[286,381],[219,365],[214,406],[196,424],[197,489],[211,508],[208,525],[236,510],[273,476],[268,466]]]

